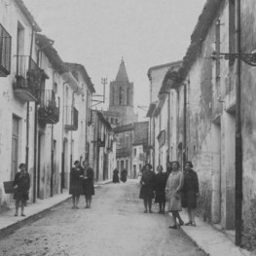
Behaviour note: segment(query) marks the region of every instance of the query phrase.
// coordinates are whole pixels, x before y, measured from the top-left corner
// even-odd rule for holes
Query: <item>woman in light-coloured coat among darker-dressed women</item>
[[[183,188],[184,176],[183,172],[179,170],[179,163],[177,161],[172,162],[172,171],[168,176],[165,197],[167,200],[167,210],[172,213],[174,225],[169,226],[170,229],[177,229],[177,219],[179,225],[183,225],[184,222],[179,215],[181,208],[181,190]]]

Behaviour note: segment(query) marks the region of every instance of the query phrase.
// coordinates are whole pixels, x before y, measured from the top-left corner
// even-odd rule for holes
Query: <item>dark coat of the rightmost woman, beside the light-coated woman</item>
[[[199,193],[199,179],[197,172],[193,169],[185,171],[182,207],[196,208],[197,193]]]

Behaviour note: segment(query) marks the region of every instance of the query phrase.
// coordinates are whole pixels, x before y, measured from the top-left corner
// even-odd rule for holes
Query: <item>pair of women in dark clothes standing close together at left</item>
[[[70,186],[69,194],[72,195],[73,209],[78,209],[78,203],[81,195],[85,196],[86,208],[91,208],[91,198],[94,195],[93,184],[94,172],[89,165],[89,162],[85,160],[83,166],[77,160],[74,163],[74,167],[70,171]]]

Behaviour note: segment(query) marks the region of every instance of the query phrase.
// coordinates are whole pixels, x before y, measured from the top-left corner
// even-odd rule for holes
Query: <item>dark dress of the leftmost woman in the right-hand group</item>
[[[155,172],[152,170],[145,170],[140,180],[140,192],[139,199],[141,200],[153,200],[154,199],[154,188],[155,188]],[[145,184],[142,185],[142,182]]]

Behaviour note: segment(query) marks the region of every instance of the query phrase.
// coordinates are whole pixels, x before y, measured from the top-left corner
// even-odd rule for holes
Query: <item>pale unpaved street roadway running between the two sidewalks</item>
[[[71,201],[0,240],[1,255],[204,255],[181,231],[169,230],[167,214],[143,213],[134,181],[96,189],[91,209]],[[29,208],[26,209],[29,211]]]

